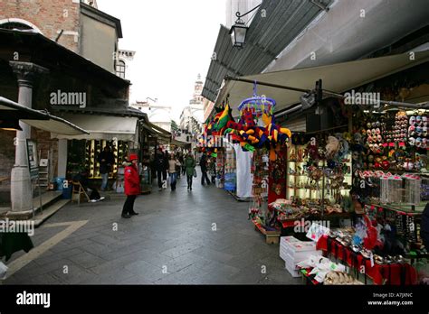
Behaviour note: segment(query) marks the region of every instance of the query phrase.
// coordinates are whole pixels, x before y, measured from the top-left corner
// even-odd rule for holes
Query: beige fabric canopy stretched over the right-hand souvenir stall
[[[342,93],[351,88],[357,88],[379,78],[384,78],[398,71],[415,67],[418,64],[429,61],[429,51],[415,52],[414,60],[410,60],[410,54],[403,53],[393,56],[342,62],[327,66],[290,69],[275,72],[262,73],[243,77],[244,79],[288,86],[292,88],[313,89],[315,82],[321,78],[323,89]],[[272,97],[276,100],[275,112],[300,103],[299,91],[282,88],[272,88],[262,85],[257,87],[258,95]],[[244,98],[253,96],[253,84],[246,82],[225,80],[215,101],[219,106],[229,95],[229,103],[233,108],[233,115],[238,115],[237,106]]]

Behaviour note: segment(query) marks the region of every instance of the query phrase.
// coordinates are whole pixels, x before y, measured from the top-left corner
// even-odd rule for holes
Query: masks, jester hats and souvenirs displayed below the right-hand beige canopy
[[[357,88],[375,90],[377,106],[329,92],[277,125],[274,99],[254,93],[238,106],[238,123],[221,123],[228,103],[215,118],[216,130],[253,152],[249,218],[268,244],[280,244],[292,276],[318,285],[429,282],[429,110],[421,97],[429,85],[414,79],[421,71]],[[253,91],[264,84],[247,83]],[[303,115],[305,131],[290,132]]]

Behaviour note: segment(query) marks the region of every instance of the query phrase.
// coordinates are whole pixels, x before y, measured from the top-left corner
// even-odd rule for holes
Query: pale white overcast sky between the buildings
[[[130,73],[132,98],[157,98],[178,122],[198,73],[203,81],[215,49],[224,0],[97,0],[120,19],[119,49],[137,51]],[[130,99],[130,100],[134,100]]]

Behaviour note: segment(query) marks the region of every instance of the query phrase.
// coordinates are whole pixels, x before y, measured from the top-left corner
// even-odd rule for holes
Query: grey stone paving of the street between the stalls
[[[123,199],[67,205],[35,230],[37,247],[14,254],[3,283],[300,284],[254,230],[249,203],[200,178],[190,192],[182,177],[175,192],[138,197],[130,219]]]

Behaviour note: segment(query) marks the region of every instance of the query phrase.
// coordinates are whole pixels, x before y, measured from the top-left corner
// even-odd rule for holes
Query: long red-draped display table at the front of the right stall
[[[317,249],[326,255],[332,255],[337,260],[361,272],[365,271],[374,284],[409,285],[416,284],[417,272],[409,263],[391,263],[371,265],[370,259],[353,252],[349,247],[341,245],[337,240],[323,235],[319,238]],[[362,267],[363,266],[363,267]]]

